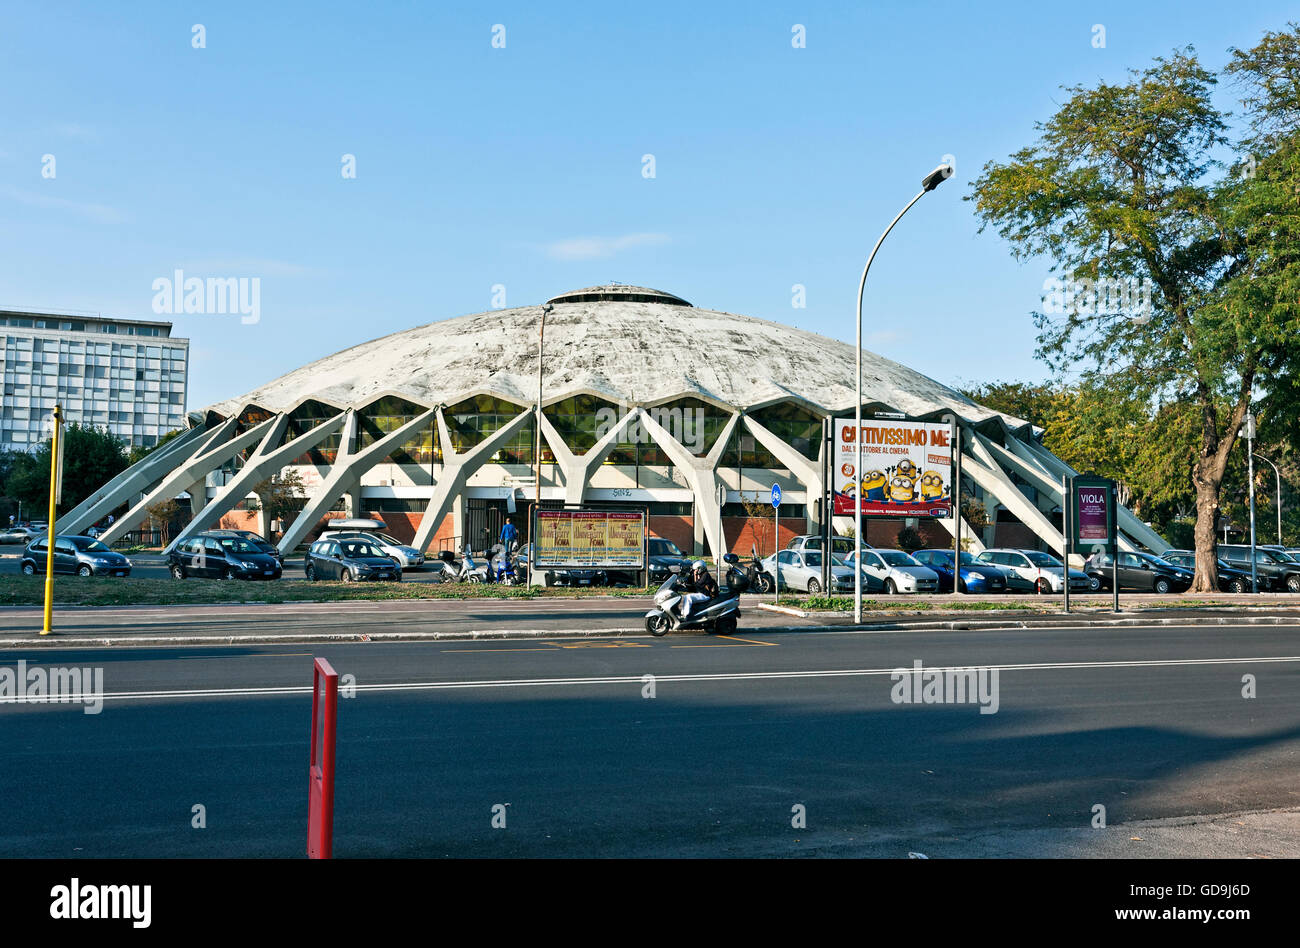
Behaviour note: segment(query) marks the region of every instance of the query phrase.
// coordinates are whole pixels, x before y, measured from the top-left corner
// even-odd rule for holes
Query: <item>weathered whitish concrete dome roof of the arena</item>
[[[606,298],[586,299],[593,295]],[[580,302],[560,302],[575,298]],[[560,294],[551,306],[547,404],[590,393],[630,406],[696,397],[732,408],[798,401],[820,411],[853,410],[849,343],[619,283]],[[257,404],[278,412],[309,398],[359,408],[386,394],[430,407],[477,394],[533,404],[541,312],[540,306],[494,309],[404,329],[303,365],[208,411],[229,416]],[[975,425],[994,419],[1011,429],[1027,425],[906,365],[867,351],[862,359],[864,403],[918,417],[952,411]]]

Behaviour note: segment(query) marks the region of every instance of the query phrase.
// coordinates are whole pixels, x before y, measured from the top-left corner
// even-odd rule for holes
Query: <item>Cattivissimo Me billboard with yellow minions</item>
[[[953,515],[952,427],[935,421],[835,421],[835,514],[853,516]],[[862,475],[858,476],[858,442]]]

